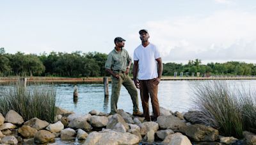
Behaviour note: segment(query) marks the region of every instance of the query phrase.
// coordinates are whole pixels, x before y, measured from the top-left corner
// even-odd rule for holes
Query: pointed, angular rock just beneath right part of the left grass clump
[[[43,120],[40,120],[40,119],[35,117],[35,118],[32,118],[29,121],[26,121],[24,123],[24,125],[28,125],[29,127],[36,128],[36,130],[42,130],[45,127],[47,127],[49,125],[49,123],[47,121],[43,121]]]

